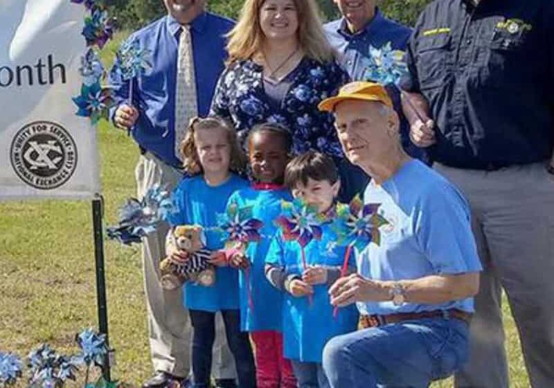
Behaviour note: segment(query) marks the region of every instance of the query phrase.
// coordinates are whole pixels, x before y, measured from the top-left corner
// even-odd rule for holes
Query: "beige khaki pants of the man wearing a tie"
[[[173,190],[183,177],[178,170],[163,163],[150,153],[141,155],[135,170],[137,195],[142,198],[148,188],[160,184]],[[167,291],[159,282],[159,262],[166,256],[165,242],[168,224],[143,238],[143,270],[150,352],[154,370],[175,376],[188,376],[190,371],[190,344],[192,326],[188,311],[183,306],[181,289]],[[220,314],[215,320],[212,374],[216,379],[235,378],[233,355],[225,341]]]

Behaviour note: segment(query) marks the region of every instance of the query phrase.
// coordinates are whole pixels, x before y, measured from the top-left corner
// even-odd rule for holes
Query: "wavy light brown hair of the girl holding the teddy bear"
[[[222,128],[227,134],[227,140],[231,145],[231,163],[229,170],[234,173],[243,173],[246,169],[247,158],[238,143],[237,132],[224,118],[218,116],[208,116],[206,118],[195,117],[190,120],[185,139],[179,145],[179,153],[183,157],[183,168],[190,175],[202,173],[202,165],[198,158],[195,144],[195,133],[198,130],[211,130]]]

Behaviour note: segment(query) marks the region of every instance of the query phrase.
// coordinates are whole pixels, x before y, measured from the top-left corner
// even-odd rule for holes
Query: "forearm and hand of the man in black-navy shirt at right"
[[[418,93],[402,92],[402,110],[410,123],[410,139],[420,148],[436,143],[435,122],[429,117],[429,104]]]

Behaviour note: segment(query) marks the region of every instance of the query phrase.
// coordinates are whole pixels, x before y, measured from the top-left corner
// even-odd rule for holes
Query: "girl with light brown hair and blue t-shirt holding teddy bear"
[[[181,144],[184,178],[175,189],[177,213],[170,223],[199,224],[205,229],[206,247],[213,251],[212,263],[218,265],[211,287],[186,283],[184,304],[193,324],[193,387],[210,387],[212,347],[215,340],[215,313],[220,311],[227,343],[235,358],[239,386],[256,387],[256,367],[247,333],[240,331],[238,275],[226,262],[217,227],[217,214],[224,213],[234,191],[248,186],[236,173],[244,168],[245,158],[235,130],[217,117],[196,118],[188,127]],[[171,252],[177,260],[186,260],[185,252]]]

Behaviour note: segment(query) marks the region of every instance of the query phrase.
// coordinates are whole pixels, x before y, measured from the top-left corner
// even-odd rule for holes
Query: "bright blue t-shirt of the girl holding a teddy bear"
[[[247,185],[247,180],[234,174],[215,187],[208,186],[202,175],[185,178],[173,192],[177,213],[170,216],[169,222],[172,225],[201,225],[205,229],[207,249],[222,249],[222,234],[213,230],[217,227],[217,214],[224,213],[229,197]],[[238,309],[237,272],[229,267],[217,267],[215,285],[211,287],[185,283],[184,306],[210,312]]]

